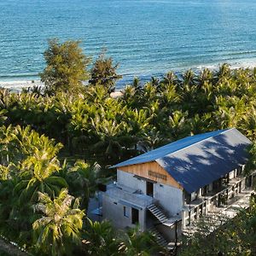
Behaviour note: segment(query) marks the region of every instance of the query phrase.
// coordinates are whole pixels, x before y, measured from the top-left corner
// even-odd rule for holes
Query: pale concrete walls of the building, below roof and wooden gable
[[[219,192],[210,183],[190,194],[188,202],[188,195],[183,189],[118,170],[117,182],[108,185],[107,191],[102,195],[102,217],[110,220],[119,229],[139,224],[140,230],[148,230],[152,224],[157,223],[158,230],[164,231],[167,238],[174,238],[174,224],[177,224],[176,231],[180,234],[191,221],[212,211],[216,201],[222,204],[220,195],[226,195],[226,200],[229,200],[245,189],[246,178],[237,177],[239,174],[240,172],[234,170],[226,176],[230,187]],[[147,195],[148,183],[152,183],[151,195]],[[152,204],[158,206],[169,222],[165,220],[165,223],[160,223],[161,217],[154,219],[148,212],[148,207]]]

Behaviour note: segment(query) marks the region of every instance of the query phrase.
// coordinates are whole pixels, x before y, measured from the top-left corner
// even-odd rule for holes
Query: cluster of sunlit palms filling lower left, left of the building
[[[72,195],[67,195],[67,189],[63,189],[68,184],[60,175],[61,166],[56,156],[61,143],[40,136],[29,126],[21,128],[19,125],[2,126],[0,142],[3,149],[0,153],[1,233],[30,249],[34,235],[37,237],[35,250],[38,254],[48,254],[49,248],[52,248],[52,255],[64,255],[67,253],[66,245],[80,241],[79,230],[84,212],[79,210],[78,199],[73,200]],[[83,162],[80,166],[81,169],[83,166],[87,168],[87,175],[90,176],[90,166]],[[69,168],[72,169],[70,172],[78,171],[79,162]],[[75,185],[70,184],[71,187]],[[89,187],[89,182],[86,186]],[[84,198],[84,204],[87,205],[87,201],[88,196]],[[53,243],[54,246],[49,247]],[[61,243],[65,245],[60,247]]]

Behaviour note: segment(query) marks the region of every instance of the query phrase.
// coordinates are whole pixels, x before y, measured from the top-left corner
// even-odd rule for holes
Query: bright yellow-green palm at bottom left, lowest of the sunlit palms
[[[42,212],[33,224],[34,238],[39,252],[50,255],[70,255],[72,244],[80,244],[80,230],[83,226],[84,211],[79,209],[79,200],[68,195],[67,189],[51,199],[39,192],[35,209]]]

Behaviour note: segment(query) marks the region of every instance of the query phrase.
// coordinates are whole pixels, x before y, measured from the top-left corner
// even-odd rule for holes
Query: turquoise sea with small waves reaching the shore
[[[127,82],[169,70],[256,66],[255,0],[0,0],[0,81],[38,79],[48,38],[102,48]]]

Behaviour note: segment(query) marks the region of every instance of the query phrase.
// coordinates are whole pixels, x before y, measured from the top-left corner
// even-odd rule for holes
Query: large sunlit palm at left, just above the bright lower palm
[[[15,127],[15,140],[19,148],[15,154],[16,177],[14,192],[19,195],[20,203],[37,200],[38,191],[57,194],[61,188],[67,187],[62,177],[55,176],[60,170],[56,154],[62,147],[44,135],[39,136],[30,127]]]

